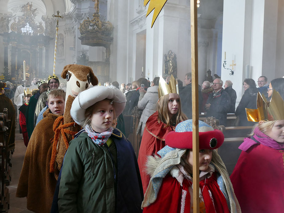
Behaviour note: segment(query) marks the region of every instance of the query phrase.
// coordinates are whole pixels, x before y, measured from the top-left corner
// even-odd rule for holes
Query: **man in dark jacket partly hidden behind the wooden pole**
[[[187,116],[188,119],[192,118],[192,93],[191,93],[191,73],[185,74],[184,79],[185,87],[179,92],[181,101],[181,110]],[[202,94],[201,87],[198,85],[198,101],[199,101],[199,113],[202,107]]]

